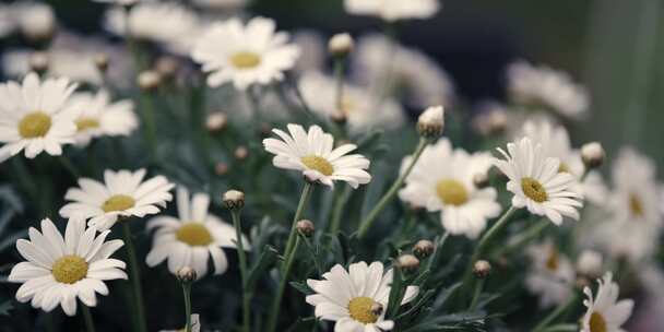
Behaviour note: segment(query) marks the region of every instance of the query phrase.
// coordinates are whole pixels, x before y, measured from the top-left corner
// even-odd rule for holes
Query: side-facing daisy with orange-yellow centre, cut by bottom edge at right
[[[607,272],[597,280],[597,296],[593,297],[590,287],[583,288],[588,299],[583,305],[588,308],[581,323],[581,332],[625,332],[621,328],[631,316],[633,300],[618,300],[620,288],[613,281],[613,274]]]

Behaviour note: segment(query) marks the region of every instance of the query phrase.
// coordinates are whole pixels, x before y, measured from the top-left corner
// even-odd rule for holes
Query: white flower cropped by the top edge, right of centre
[[[384,21],[429,19],[440,9],[438,0],[345,0],[346,12],[378,16]]]

